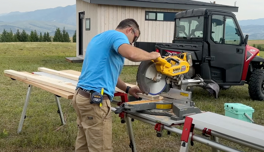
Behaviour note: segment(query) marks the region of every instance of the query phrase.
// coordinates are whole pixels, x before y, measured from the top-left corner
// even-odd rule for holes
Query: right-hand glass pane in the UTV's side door
[[[225,23],[225,44],[239,45],[241,35],[233,18],[227,16]]]

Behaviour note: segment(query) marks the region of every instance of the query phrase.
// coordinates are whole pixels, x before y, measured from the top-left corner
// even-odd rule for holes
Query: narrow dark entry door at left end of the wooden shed
[[[83,56],[83,20],[84,20],[84,12],[79,12],[79,56]]]

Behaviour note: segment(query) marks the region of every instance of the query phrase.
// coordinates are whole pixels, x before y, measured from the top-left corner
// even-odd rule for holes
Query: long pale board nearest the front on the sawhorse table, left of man
[[[44,84],[44,85],[47,85],[47,86],[50,86],[50,87],[54,87],[54,88],[57,88],[57,89],[61,89],[61,90],[67,91],[67,92],[75,93],[76,87],[70,86],[70,85],[67,85],[67,84],[62,84],[62,83],[59,83],[59,82],[46,80],[46,79],[43,79],[43,78],[39,78],[37,76],[28,75],[28,74],[25,74],[25,73],[22,73],[22,72],[18,72],[18,71],[15,71],[15,70],[4,70],[4,73],[9,74],[9,75],[13,75],[13,76],[16,76],[16,77],[20,77],[22,79],[27,79],[29,81],[33,81],[33,82],[37,82],[37,83],[40,83],[40,84]]]

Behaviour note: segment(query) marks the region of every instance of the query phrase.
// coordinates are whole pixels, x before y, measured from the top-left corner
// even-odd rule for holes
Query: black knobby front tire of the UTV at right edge
[[[264,70],[253,71],[248,82],[248,92],[252,100],[264,101]]]

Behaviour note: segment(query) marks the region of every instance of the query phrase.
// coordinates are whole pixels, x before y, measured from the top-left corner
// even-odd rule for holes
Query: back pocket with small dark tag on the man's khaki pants
[[[85,122],[89,126],[97,123],[95,112],[94,112],[94,107],[80,108],[78,106],[78,110],[79,110],[82,122]]]

